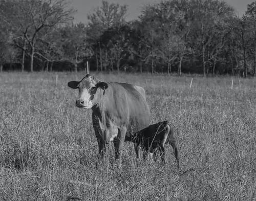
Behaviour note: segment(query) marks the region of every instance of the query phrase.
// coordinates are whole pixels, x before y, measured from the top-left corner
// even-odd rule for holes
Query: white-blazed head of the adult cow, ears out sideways
[[[81,81],[70,81],[68,86],[78,88],[79,97],[76,100],[76,106],[83,109],[90,109],[98,103],[100,95],[105,94],[108,84],[101,82],[91,75],[86,75]]]

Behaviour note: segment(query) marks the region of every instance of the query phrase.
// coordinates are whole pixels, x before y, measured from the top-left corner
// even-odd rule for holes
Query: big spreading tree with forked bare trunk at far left
[[[39,33],[73,19],[74,11],[67,5],[66,0],[10,0],[5,4],[5,20],[10,21],[17,38],[25,38],[30,47],[30,71],[33,71]]]

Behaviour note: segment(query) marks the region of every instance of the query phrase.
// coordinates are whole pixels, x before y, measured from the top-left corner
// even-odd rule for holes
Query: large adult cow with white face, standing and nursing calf
[[[103,157],[105,144],[114,143],[115,158],[120,157],[124,141],[131,141],[133,132],[150,124],[150,109],[142,87],[118,82],[102,82],[87,74],[81,81],[70,81],[78,88],[76,106],[92,109],[92,122],[99,154]],[[135,145],[137,157],[139,147]]]

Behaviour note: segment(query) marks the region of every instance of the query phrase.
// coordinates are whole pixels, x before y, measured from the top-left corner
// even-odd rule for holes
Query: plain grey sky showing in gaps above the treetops
[[[254,0],[225,0],[242,16],[247,9],[247,5]],[[71,5],[77,13],[74,15],[75,21],[87,23],[88,13],[92,13],[95,8],[101,6],[102,0],[73,0]],[[118,3],[119,5],[126,4],[128,6],[126,20],[136,19],[140,14],[141,8],[145,4],[158,3],[160,0],[110,0],[110,3]]]

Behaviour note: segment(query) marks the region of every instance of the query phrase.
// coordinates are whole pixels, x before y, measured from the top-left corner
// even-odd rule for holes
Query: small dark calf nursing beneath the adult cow
[[[161,160],[165,164],[164,144],[169,143],[174,149],[174,155],[179,167],[179,153],[176,146],[175,131],[178,131],[169,121],[162,121],[139,130],[132,135],[131,141],[141,146],[145,152],[154,154],[156,161],[157,151],[160,151]],[[146,154],[143,155],[145,160]]]

